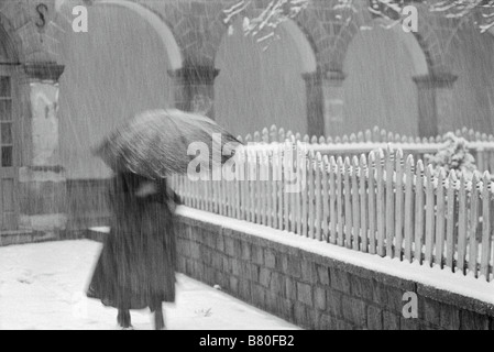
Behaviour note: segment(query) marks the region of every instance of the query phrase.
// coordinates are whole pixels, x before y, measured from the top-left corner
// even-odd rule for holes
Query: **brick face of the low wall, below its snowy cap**
[[[306,329],[494,329],[494,306],[461,295],[186,216],[178,237],[179,272]]]

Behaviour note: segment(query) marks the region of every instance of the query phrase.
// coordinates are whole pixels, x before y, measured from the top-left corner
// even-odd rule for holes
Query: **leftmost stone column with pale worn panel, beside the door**
[[[28,63],[21,70],[20,227],[59,235],[67,220],[57,117],[58,78],[64,66]]]

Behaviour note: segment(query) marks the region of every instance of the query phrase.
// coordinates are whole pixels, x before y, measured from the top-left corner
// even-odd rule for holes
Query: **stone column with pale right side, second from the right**
[[[338,135],[343,124],[341,72],[318,69],[304,74],[307,89],[307,132],[310,136]]]

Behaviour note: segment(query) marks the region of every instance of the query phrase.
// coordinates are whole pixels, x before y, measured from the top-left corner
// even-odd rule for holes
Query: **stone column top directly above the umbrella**
[[[215,79],[219,72],[212,66],[191,64],[168,72],[175,80],[175,107],[215,119]]]

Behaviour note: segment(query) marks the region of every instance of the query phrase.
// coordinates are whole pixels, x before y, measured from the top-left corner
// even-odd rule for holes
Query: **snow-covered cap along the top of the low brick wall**
[[[178,213],[190,217],[199,222],[212,222],[220,224],[224,233],[234,233],[235,237],[256,238],[256,242],[275,242],[277,245],[292,248],[303,257],[312,257],[319,264],[338,266],[351,274],[371,277],[376,282],[398,287],[404,290],[414,290],[420,286],[428,289],[432,299],[450,304],[458,304],[462,309],[473,309],[477,312],[494,310],[494,283],[487,283],[469,276],[460,276],[447,271],[420,266],[417,263],[400,262],[397,258],[380,257],[369,253],[358,252],[350,249],[319,242],[312,239],[299,237],[287,231],[281,231],[264,226],[227,218],[219,215],[179,207]],[[229,228],[234,231],[224,230]],[[243,233],[241,233],[243,231]],[[271,245],[270,245],[271,246]],[[454,279],[451,277],[454,275]],[[417,284],[417,286],[415,286]],[[451,295],[460,297],[450,301]],[[462,297],[462,298],[461,298]],[[473,304],[474,302],[474,304]]]

